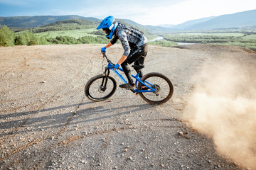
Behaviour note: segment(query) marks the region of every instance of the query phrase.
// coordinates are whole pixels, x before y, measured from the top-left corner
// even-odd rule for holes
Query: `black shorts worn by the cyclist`
[[[132,64],[132,62],[139,62],[139,65],[144,64],[144,58],[146,57],[148,51],[148,45],[149,43],[146,43],[140,47],[132,48],[127,57],[127,63]]]

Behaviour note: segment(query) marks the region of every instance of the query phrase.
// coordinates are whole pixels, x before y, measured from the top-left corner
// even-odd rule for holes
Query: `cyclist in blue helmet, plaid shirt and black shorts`
[[[131,69],[129,69],[128,64],[132,64],[134,62],[134,65],[143,66],[148,50],[149,40],[147,40],[142,31],[131,26],[117,23],[113,16],[108,16],[102,20],[100,25],[97,27],[97,30],[99,29],[103,29],[105,31],[108,39],[112,39],[112,36],[114,35],[114,38],[110,40],[105,47],[102,47],[101,52],[106,52],[107,47],[114,45],[117,40],[122,42],[124,53],[117,64],[115,64],[114,69],[118,69],[121,65],[122,69],[124,70],[124,74],[128,79],[127,84],[121,84],[119,87],[124,89],[134,89],[135,85],[132,80]],[[137,71],[137,73],[139,73],[139,77],[143,76],[140,69],[134,69]]]

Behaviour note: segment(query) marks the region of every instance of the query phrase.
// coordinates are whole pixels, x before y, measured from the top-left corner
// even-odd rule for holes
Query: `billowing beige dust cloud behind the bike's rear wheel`
[[[252,76],[252,75],[251,75]],[[213,139],[220,155],[256,169],[256,84],[239,64],[203,69],[184,118]]]

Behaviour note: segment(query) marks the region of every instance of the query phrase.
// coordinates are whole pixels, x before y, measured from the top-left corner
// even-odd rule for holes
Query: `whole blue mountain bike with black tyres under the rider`
[[[104,101],[116,91],[117,81],[110,76],[110,72],[114,72],[125,84],[127,83],[121,74],[124,72],[122,68],[114,69],[114,63],[107,58],[106,53],[103,53],[103,58],[108,62],[105,71],[103,71],[103,74],[92,77],[85,85],[85,96],[92,101]],[[132,67],[137,69],[137,75],[132,74],[135,79],[135,89],[129,90],[134,94],[139,94],[144,101],[150,104],[161,104],[169,101],[174,93],[174,86],[166,76],[151,72],[140,78],[138,70],[141,70],[144,66],[132,65]]]

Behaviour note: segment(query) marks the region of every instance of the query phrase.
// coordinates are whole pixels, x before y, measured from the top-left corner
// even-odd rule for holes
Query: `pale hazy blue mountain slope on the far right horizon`
[[[256,10],[217,16],[208,21],[197,23],[186,29],[208,30],[215,28],[242,28],[247,26],[256,26]]]

